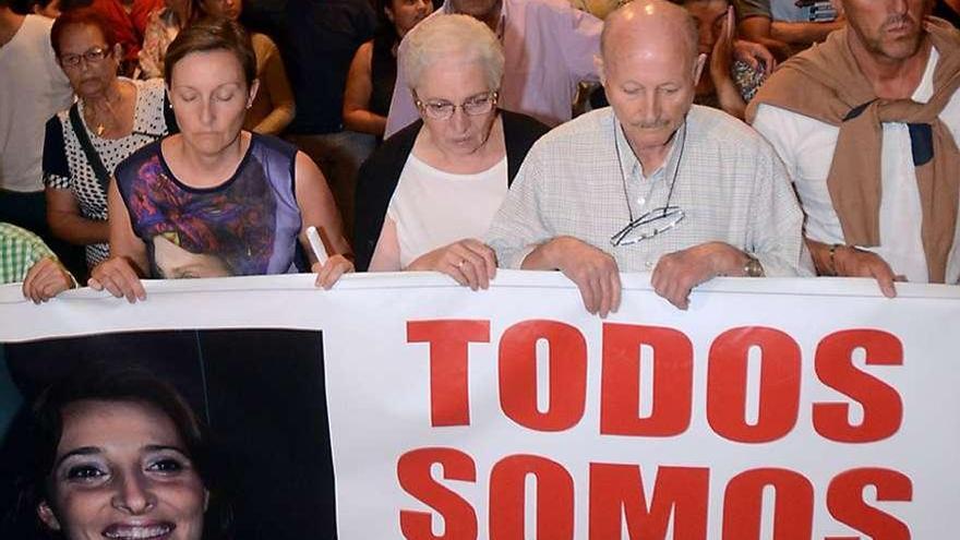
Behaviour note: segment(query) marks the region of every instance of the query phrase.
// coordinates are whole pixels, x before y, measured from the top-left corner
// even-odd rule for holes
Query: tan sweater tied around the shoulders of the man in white
[[[751,101],[746,118],[753,122],[757,107],[768,104],[840,128],[827,188],[844,241],[863,247],[880,242],[881,124],[911,124],[929,280],[944,283],[960,204],[960,153],[938,116],[960,87],[960,32],[934,17],[925,28],[939,53],[928,103],[878,99],[843,28],[787,61]]]

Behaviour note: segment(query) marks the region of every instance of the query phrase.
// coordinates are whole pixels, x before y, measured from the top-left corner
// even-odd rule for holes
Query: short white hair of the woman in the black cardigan
[[[399,53],[410,89],[420,85],[431,65],[451,57],[479,63],[491,91],[500,88],[503,79],[503,46],[489,26],[469,15],[430,16],[407,34]]]

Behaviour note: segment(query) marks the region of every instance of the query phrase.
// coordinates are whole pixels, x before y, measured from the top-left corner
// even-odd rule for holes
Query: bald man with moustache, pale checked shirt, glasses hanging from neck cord
[[[715,276],[809,275],[773,149],[693,105],[704,62],[682,8],[636,0],[613,12],[597,60],[611,107],[530,149],[487,235],[499,265],[563,272],[600,316],[620,305],[620,271],[652,271],[680,309]]]

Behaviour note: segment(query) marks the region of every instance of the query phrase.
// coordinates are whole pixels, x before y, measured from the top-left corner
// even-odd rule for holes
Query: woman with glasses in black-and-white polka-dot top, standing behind
[[[107,260],[110,175],[140,147],[164,136],[163,81],[117,76],[120,45],[95,10],[68,10],[50,33],[77,101],[47,122],[47,221],[58,238],[86,247],[88,267]]]

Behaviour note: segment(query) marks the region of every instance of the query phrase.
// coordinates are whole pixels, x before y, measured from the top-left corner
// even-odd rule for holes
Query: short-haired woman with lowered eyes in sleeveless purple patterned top
[[[256,96],[256,60],[228,19],[194,23],[167,50],[165,80],[180,133],[141,148],[110,185],[111,257],[91,287],[131,302],[141,277],[284,274],[310,267],[333,286],[353,268],[333,195],[292,145],[242,129]],[[315,227],[331,256],[310,251]]]

